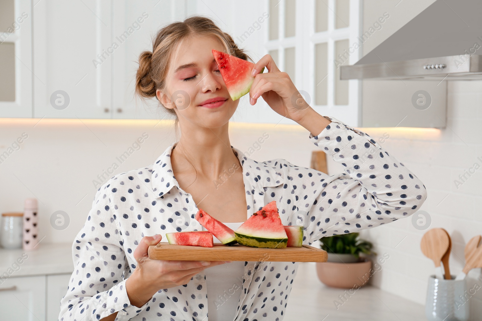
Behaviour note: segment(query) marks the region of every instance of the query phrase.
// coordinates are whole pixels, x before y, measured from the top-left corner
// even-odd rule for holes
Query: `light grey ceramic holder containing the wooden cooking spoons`
[[[430,321],[469,320],[469,301],[465,280],[428,278],[425,315]]]

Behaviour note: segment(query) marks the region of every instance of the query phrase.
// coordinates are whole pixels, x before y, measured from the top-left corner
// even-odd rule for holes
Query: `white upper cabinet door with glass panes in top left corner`
[[[0,2],[0,117],[32,117],[32,4]]]

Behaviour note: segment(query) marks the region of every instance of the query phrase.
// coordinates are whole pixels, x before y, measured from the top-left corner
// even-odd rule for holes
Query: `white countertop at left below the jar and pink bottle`
[[[72,243],[41,242],[37,247],[32,251],[0,247],[0,273],[8,272],[9,269],[13,270],[13,273],[8,272],[11,277],[72,273]],[[26,259],[23,258],[26,257],[24,253],[28,255]],[[18,263],[18,258],[21,259],[21,264]]]

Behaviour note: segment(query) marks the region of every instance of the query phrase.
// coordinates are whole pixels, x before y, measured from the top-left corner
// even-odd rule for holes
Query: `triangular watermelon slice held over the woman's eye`
[[[217,67],[224,79],[229,96],[233,101],[240,99],[251,89],[254,77],[251,76],[254,64],[247,60],[232,56],[223,51],[212,50]],[[261,69],[263,73],[265,67]]]

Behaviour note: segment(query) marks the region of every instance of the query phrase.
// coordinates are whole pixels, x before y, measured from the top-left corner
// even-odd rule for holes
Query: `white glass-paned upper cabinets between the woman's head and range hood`
[[[248,0],[244,4],[199,0],[197,12],[213,16],[254,63],[270,54],[318,113],[358,125],[360,82],[337,81],[334,60],[358,36],[360,0]],[[349,57],[350,64],[358,61],[358,54]],[[241,97],[231,120],[296,124],[274,112],[262,98],[250,105],[249,95]]]

